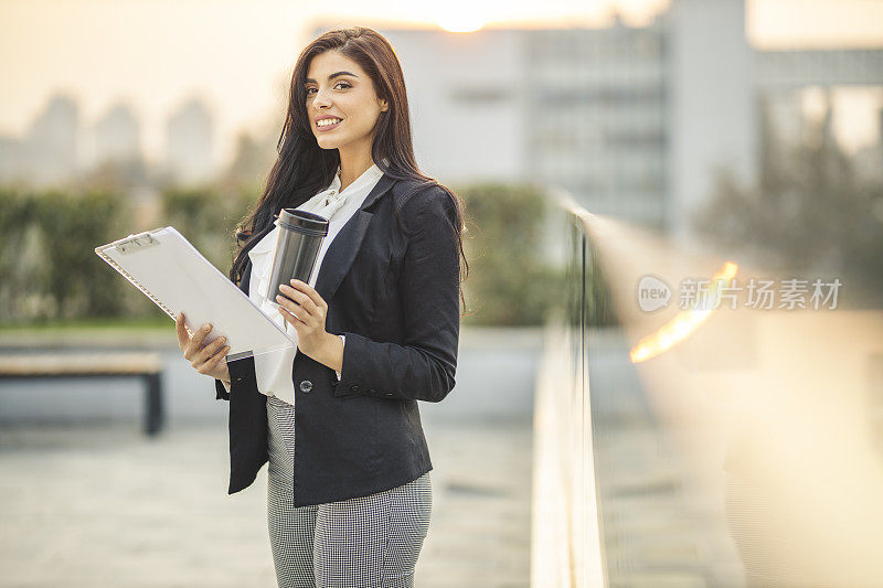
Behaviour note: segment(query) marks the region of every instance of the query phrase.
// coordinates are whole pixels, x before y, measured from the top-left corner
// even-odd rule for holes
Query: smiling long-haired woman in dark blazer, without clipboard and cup
[[[283,207],[322,214],[329,233],[309,282],[267,296]],[[462,226],[459,197],[417,169],[390,43],[359,26],[312,41],[230,272],[296,353],[232,360],[210,324],[192,338],[177,325],[184,357],[230,400],[228,493],[268,462],[279,586],[413,586],[433,469],[417,400],[455,384]]]

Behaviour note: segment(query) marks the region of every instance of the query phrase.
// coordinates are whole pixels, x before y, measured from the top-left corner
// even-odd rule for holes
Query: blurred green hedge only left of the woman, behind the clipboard
[[[168,189],[160,220],[223,272],[233,228],[257,195],[237,189]],[[114,318],[166,320],[147,297],[95,255],[95,247],[138,229],[119,191],[29,191],[0,188],[0,324]],[[151,226],[151,228],[153,228]]]

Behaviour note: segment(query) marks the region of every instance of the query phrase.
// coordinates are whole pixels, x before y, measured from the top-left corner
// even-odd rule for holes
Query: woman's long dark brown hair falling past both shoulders
[[[461,284],[469,272],[462,248],[462,201],[454,191],[419,171],[414,159],[407,93],[398,57],[383,35],[364,26],[328,31],[300,53],[291,76],[285,125],[276,146],[278,157],[257,205],[236,226],[240,249],[230,270],[230,279],[238,284],[245,270],[248,250],[256,245],[258,234],[273,224],[275,215],[281,209],[304,204],[325,190],[334,178],[340,154],[337,149],[320,148],[316,141],[307,114],[307,93],[304,87],[311,60],[329,50],[340,51],[358,63],[371,77],[377,96],[385,98],[390,105],[387,110],[380,113],[373,129],[371,157],[376,165],[396,180],[418,180],[421,184],[438,185],[453,200],[457,223],[451,228],[462,258],[459,276]],[[398,211],[395,213],[397,217]],[[465,307],[461,287],[460,300]]]

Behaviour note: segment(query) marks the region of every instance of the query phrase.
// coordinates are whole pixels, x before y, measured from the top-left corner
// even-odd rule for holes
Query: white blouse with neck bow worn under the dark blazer
[[[334,240],[334,237],[343,225],[347,224],[347,221],[359,210],[368,194],[374,189],[374,185],[376,185],[382,177],[383,171],[374,163],[350,185],[340,190],[340,167],[338,167],[338,171],[331,184],[297,207],[297,210],[316,212],[329,218],[328,234],[325,236],[319,247],[319,253],[317,254],[316,263],[308,281],[313,288],[316,287],[316,280],[319,277],[319,270],[321,269],[322,259],[325,258],[328,247]],[[283,318],[278,307],[275,306],[276,293],[278,292],[272,292],[269,299],[265,297],[270,277],[269,274],[273,269],[273,250],[276,246],[276,235],[279,232],[278,223],[279,221],[277,218],[275,222],[276,226],[264,235],[257,245],[248,252],[248,257],[252,260],[248,298],[254,300],[258,308],[260,308],[272,321],[281,329],[285,329],[288,335],[297,341],[297,330]],[[345,345],[344,336],[338,336],[343,340]],[[255,354],[255,376],[257,378],[258,392],[267,396],[276,396],[288,404],[295,404],[292,372],[297,351],[297,345],[295,345],[288,349]],[[338,379],[340,379],[340,372],[336,370],[334,373]],[[227,392],[230,392],[230,386],[226,382],[223,384]]]

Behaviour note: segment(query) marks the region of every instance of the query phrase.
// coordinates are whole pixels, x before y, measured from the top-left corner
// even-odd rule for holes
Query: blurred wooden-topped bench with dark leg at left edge
[[[156,353],[39,353],[0,355],[0,379],[39,377],[140,377],[145,382],[143,431],[162,428],[162,362]]]

